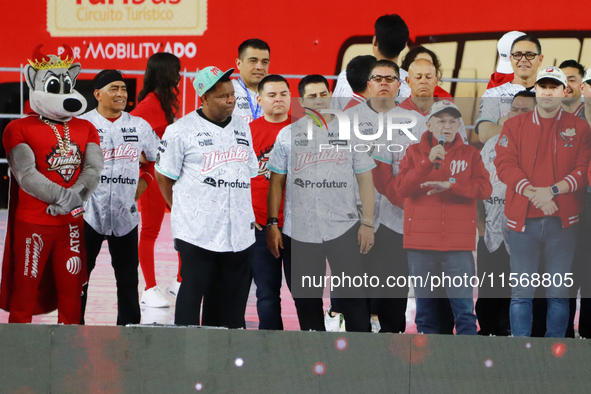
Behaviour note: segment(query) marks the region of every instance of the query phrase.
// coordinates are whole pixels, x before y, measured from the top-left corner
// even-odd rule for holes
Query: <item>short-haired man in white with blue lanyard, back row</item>
[[[263,107],[257,101],[259,83],[269,73],[269,45],[258,38],[244,41],[238,47],[236,68],[240,72],[237,79],[232,80],[236,96],[233,115],[239,116],[247,123],[263,116]]]

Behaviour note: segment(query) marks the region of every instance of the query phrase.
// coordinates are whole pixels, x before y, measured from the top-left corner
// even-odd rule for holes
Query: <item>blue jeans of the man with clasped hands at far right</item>
[[[511,292],[511,334],[516,337],[531,335],[532,300],[536,288],[529,283],[522,286],[520,278],[530,279],[538,273],[542,254],[546,262],[544,273],[554,278],[562,277],[562,286],[554,286],[558,280],[551,280],[546,290],[548,314],[546,337],[564,338],[568,325],[569,288],[564,285],[564,274],[571,272],[577,225],[562,228],[559,217],[534,218],[525,220],[525,231],[509,231],[511,248],[511,273],[517,274],[517,286]],[[527,274],[527,275],[524,275]],[[541,284],[540,284],[541,285]]]

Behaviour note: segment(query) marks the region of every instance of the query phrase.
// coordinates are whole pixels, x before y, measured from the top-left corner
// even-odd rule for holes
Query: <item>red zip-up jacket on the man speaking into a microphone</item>
[[[445,144],[445,159],[438,170],[429,160],[433,146],[433,134],[424,133],[418,144],[408,147],[398,176],[393,178],[396,193],[405,198],[404,248],[475,250],[476,200],[485,200],[492,193],[489,173],[478,150],[464,144],[459,134]],[[450,178],[456,180],[451,190],[428,196],[431,189],[421,188],[424,182]]]

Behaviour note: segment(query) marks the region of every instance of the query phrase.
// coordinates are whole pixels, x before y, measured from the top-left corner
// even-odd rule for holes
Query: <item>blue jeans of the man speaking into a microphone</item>
[[[451,251],[440,252],[434,250],[408,250],[408,264],[410,275],[422,278],[423,286],[415,286],[415,300],[417,314],[415,323],[417,331],[423,334],[438,334],[439,322],[437,319],[438,299],[433,298],[431,292],[431,279],[426,282],[427,276],[442,274],[453,279],[455,276],[469,277],[474,275],[474,257],[472,252]],[[419,283],[419,282],[417,282]],[[458,283],[458,282],[456,282]],[[472,286],[468,281],[467,286],[462,284],[454,286],[453,282],[445,281],[445,291],[449,297],[451,308],[456,323],[456,333],[459,335],[476,335],[476,315],[474,314],[474,301]]]

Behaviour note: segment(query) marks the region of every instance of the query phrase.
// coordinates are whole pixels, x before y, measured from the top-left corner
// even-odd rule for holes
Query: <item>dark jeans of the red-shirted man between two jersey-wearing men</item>
[[[281,320],[281,267],[283,255],[276,259],[267,247],[267,228],[255,229],[252,276],[257,286],[259,330],[283,330]],[[283,252],[282,249],[279,249]]]

